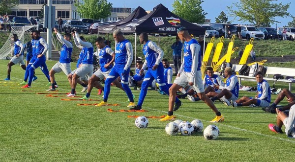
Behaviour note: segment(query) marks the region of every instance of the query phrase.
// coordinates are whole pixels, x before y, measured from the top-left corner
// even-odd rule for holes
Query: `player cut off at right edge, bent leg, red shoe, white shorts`
[[[276,108],[276,125],[268,124],[268,128],[275,133],[283,133],[282,126],[285,125],[285,133],[289,138],[295,138],[295,105],[290,108],[289,116]]]

